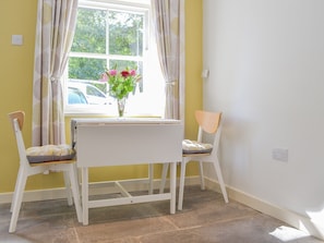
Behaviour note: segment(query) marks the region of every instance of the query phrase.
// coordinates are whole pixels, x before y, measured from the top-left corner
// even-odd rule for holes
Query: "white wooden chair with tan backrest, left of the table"
[[[67,193],[68,193],[68,204],[69,205],[73,204],[73,199],[71,196],[71,189],[72,189],[77,220],[79,222],[82,222],[80,190],[79,190],[79,182],[77,182],[77,174],[76,174],[77,171],[76,171],[75,160],[72,159],[75,155],[72,155],[72,154],[67,155],[67,153],[64,155],[62,154],[61,155],[58,155],[58,154],[40,155],[39,154],[35,156],[33,155],[35,150],[37,149],[40,150],[43,148],[47,148],[47,150],[49,150],[48,148],[50,148],[50,150],[53,149],[56,151],[60,151],[60,149],[62,150],[62,146],[59,146],[59,145],[57,146],[51,145],[51,147],[49,146],[31,147],[29,150],[32,153],[28,154],[28,149],[25,148],[25,144],[22,135],[25,113],[23,111],[15,111],[15,112],[9,113],[9,118],[13,126],[16,144],[17,144],[19,156],[20,156],[20,169],[19,169],[15,189],[12,197],[12,204],[10,208],[12,215],[10,220],[9,232],[12,233],[15,231],[27,178],[29,175],[45,173],[50,170],[63,171],[64,182],[65,182]],[[34,162],[31,162],[31,160]]]

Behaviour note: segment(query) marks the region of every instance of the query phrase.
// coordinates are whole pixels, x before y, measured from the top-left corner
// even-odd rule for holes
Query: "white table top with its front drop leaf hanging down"
[[[183,124],[164,119],[75,119],[79,167],[181,161]]]

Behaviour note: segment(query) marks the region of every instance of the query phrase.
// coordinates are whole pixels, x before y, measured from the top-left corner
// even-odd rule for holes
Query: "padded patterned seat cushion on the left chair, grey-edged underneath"
[[[29,162],[47,162],[73,159],[75,150],[67,144],[44,145],[27,148],[26,155]]]

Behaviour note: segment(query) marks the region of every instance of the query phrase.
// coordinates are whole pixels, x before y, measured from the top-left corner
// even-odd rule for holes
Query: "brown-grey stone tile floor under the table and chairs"
[[[320,243],[286,223],[199,186],[187,186],[183,210],[169,202],[89,210],[77,222],[65,199],[24,203],[15,233],[8,233],[10,205],[0,205],[0,242],[5,243]]]

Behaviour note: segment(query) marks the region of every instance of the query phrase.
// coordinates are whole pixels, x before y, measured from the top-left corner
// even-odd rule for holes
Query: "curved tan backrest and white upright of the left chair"
[[[25,121],[25,112],[24,111],[14,111],[8,114],[9,119],[11,121],[13,132],[15,135],[16,144],[17,144],[17,149],[20,154],[20,162],[21,165],[28,165],[27,156],[26,156],[26,148],[24,144],[24,138],[22,134],[22,129],[24,125]]]

